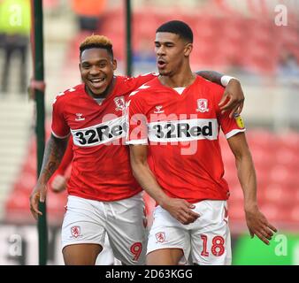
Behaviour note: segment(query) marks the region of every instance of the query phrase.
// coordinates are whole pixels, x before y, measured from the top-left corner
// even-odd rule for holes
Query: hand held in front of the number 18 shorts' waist
[[[180,198],[170,198],[166,203],[161,204],[161,206],[167,210],[173,218],[176,218],[184,225],[193,223],[200,217],[198,213],[192,210],[196,208],[194,204],[188,203]]]

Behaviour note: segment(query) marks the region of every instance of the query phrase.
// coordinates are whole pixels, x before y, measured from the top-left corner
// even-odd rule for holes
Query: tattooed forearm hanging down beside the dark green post
[[[38,178],[38,183],[45,185],[50,177],[58,169],[58,166],[64,157],[67,139],[58,139],[50,135],[46,149],[43,155],[42,170]]]

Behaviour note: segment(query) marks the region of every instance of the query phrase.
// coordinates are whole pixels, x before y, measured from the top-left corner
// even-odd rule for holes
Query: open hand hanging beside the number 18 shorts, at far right
[[[268,222],[264,214],[258,210],[257,205],[245,209],[245,216],[251,238],[257,235],[261,241],[269,245],[273,232],[277,232],[277,229]]]

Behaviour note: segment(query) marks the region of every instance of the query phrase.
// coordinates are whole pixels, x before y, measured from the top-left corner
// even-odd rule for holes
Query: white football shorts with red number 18
[[[200,218],[188,225],[181,224],[168,211],[157,206],[147,254],[157,249],[182,249],[185,264],[231,264],[226,201],[207,200],[194,204],[194,211]]]

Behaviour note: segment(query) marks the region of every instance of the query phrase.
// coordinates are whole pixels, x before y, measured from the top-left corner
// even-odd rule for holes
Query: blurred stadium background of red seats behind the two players
[[[126,73],[122,0],[43,0],[47,134],[51,103],[80,83],[79,45],[89,34],[111,38]],[[18,17],[11,17],[17,11]],[[258,203],[279,233],[269,247],[250,240],[234,157],[221,138],[230,186],[233,264],[299,264],[299,1],[134,0],[134,75],[156,71],[154,37],[165,21],[192,27],[193,70],[239,78],[246,96],[242,117],[257,170]],[[38,235],[28,197],[36,180],[35,102],[30,1],[0,0],[0,264],[38,264]],[[149,201],[150,202],[150,201]],[[66,193],[49,190],[49,263],[63,264],[60,226]]]

